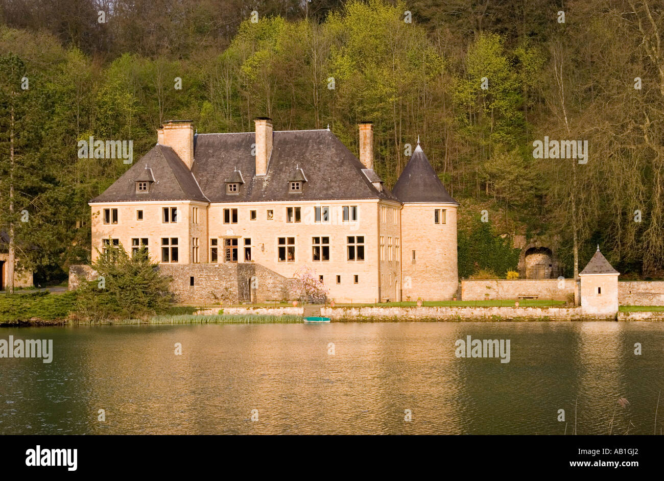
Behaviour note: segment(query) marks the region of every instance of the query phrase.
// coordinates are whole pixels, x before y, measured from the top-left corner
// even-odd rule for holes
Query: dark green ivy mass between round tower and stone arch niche
[[[517,268],[519,253],[511,247],[509,238],[498,236],[488,222],[476,221],[470,232],[459,230],[459,277],[468,278],[482,270],[505,277],[507,271]]]

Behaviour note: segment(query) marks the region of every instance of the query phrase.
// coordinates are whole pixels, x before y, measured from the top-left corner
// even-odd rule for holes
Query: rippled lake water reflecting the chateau
[[[664,390],[662,322],[0,329],[10,334],[52,339],[54,354],[0,359],[3,435],[570,435],[575,405],[580,435],[653,434]],[[457,358],[468,335],[509,339],[510,362]],[[664,393],[658,434],[662,421]]]

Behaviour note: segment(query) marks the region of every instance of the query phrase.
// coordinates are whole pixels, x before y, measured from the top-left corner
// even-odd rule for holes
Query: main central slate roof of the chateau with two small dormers
[[[255,175],[254,143],[254,132],[195,137],[192,171],[210,202],[292,201],[288,182],[298,168],[307,171],[307,188],[298,200],[397,200],[369,182],[362,173],[365,166],[331,131],[274,131],[272,154],[262,176]],[[220,179],[230,178],[235,168],[246,175],[245,183],[239,194],[227,194]]]

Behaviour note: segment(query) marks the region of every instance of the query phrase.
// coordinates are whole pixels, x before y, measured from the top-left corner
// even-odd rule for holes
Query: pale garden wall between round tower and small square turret
[[[574,295],[574,280],[565,279],[562,286],[558,279],[488,279],[482,281],[461,281],[461,300],[483,301],[487,299],[519,299],[519,297],[537,297],[567,301]]]

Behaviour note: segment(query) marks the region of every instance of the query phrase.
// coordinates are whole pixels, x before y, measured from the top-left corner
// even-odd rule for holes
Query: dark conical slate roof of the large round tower
[[[392,194],[401,202],[446,202],[459,204],[448,194],[429,159],[418,144],[408,165],[392,188]]]

